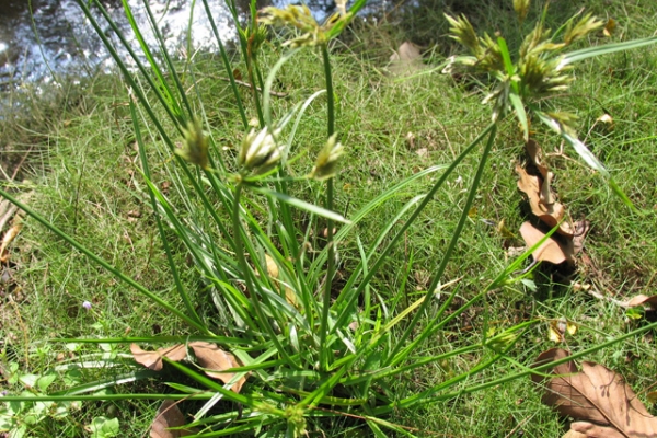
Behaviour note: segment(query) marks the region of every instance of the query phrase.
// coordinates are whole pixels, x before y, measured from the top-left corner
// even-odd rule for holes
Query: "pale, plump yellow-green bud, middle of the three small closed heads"
[[[276,145],[275,135],[269,132],[265,126],[258,132],[251,129],[251,132],[242,140],[242,147],[238,157],[240,168],[246,169],[254,174],[263,174],[276,166],[280,161],[280,148]]]

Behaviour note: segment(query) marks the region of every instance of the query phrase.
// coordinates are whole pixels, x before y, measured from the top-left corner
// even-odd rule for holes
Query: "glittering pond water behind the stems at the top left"
[[[135,41],[120,0],[102,0],[122,33]],[[249,0],[235,0],[238,10],[245,14]],[[192,0],[149,0],[168,48],[184,47],[192,19],[194,49],[215,50],[217,42],[201,0],[194,8]],[[284,7],[289,0],[258,0],[258,9],[267,3]],[[136,21],[147,41],[152,32],[142,0],[128,0]],[[230,12],[224,0],[208,0],[223,42],[235,37]],[[307,2],[318,20],[334,9],[332,0]],[[99,14],[100,16],[100,14]],[[100,20],[104,33],[116,38],[114,32]],[[58,74],[90,74],[113,65],[110,54],[85,19],[77,0],[0,0],[0,88],[24,81],[47,83]]]

